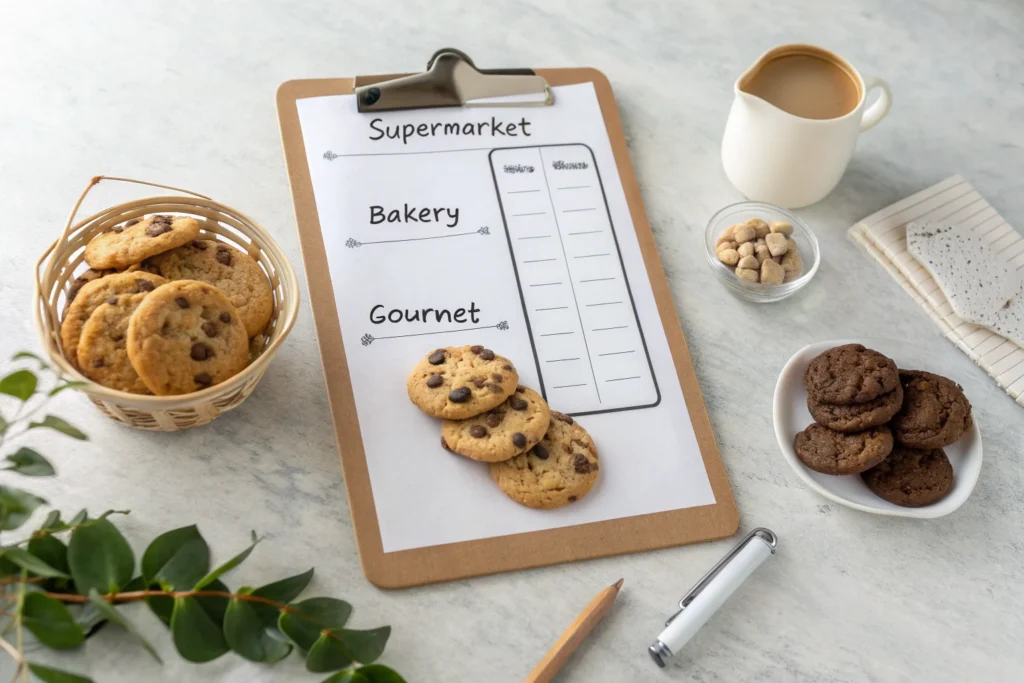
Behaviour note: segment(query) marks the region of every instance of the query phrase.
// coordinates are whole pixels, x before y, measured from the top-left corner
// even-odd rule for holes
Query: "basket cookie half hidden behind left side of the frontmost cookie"
[[[128,358],[128,322],[148,292],[122,294],[99,304],[78,342],[78,367],[93,382],[129,393],[152,393]]]

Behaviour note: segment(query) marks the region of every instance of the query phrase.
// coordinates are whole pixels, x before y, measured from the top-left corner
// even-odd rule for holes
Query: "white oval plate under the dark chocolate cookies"
[[[863,344],[885,353],[898,368],[904,370],[930,370],[928,358],[910,344],[889,339],[841,339],[811,344],[797,351],[782,368],[775,384],[774,420],[775,437],[790,466],[812,489],[825,498],[855,510],[877,515],[897,517],[934,518],[948,515],[964,505],[971,496],[981,474],[981,430],[978,421],[955,443],[945,451],[953,466],[953,487],[941,501],[920,508],[903,508],[884,501],[870,492],[859,474],[831,476],[808,468],[793,449],[797,432],[803,431],[813,422],[807,410],[807,390],[804,388],[804,372],[811,358],[833,346],[843,344]],[[934,366],[934,362],[931,364]],[[955,381],[955,380],[954,380]]]

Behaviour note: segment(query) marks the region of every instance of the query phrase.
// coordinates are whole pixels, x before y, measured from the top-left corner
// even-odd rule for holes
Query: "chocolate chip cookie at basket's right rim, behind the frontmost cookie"
[[[195,240],[147,258],[142,267],[167,280],[198,280],[218,288],[239,311],[250,337],[263,332],[270,322],[270,281],[252,257],[222,242]]]

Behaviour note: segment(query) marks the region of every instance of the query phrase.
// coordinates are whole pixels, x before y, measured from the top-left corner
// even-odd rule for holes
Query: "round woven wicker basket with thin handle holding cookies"
[[[134,182],[179,195],[148,197],[118,204],[74,223],[86,195],[101,180]],[[263,333],[263,346],[254,350],[256,357],[249,367],[225,382],[177,396],[143,396],[96,384],[79,373],[60,349],[60,319],[68,290],[75,278],[88,267],[83,260],[85,245],[113,225],[153,213],[172,213],[199,219],[202,238],[219,240],[249,254],[266,271],[273,289],[273,314]],[[93,178],[72,209],[63,234],[50,245],[36,264],[34,311],[46,353],[65,375],[86,383],[82,390],[103,415],[139,429],[178,431],[198,427],[239,405],[252,393],[273,354],[292,330],[298,307],[299,286],[295,271],[281,248],[256,221],[208,197],[130,178]]]

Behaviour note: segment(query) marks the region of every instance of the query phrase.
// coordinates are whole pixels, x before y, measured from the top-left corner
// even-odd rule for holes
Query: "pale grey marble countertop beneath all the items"
[[[259,389],[212,425],[123,428],[83,396],[56,412],[91,440],[42,439],[58,468],[29,482],[72,512],[130,508],[141,550],[198,522],[234,572],[258,584],[310,565],[310,595],[344,597],[357,628],[391,624],[384,661],[412,681],[517,681],[590,598],[620,577],[612,611],[560,681],[998,681],[1024,669],[1024,413],[942,339],[846,238],[856,219],[952,173],[1024,225],[1024,8],[954,0],[822,3],[175,2],[17,3],[0,23],[0,356],[37,348],[30,271],[87,179],[110,173],[197,189],[242,208],[300,270],[273,94],[295,78],[421,68],[456,45],[481,66],[592,66],[610,79],[662,260],[739,506],[780,552],[671,667],[645,649],[674,601],[733,541],[381,591],[359,568],[303,286],[287,345]],[[866,133],[839,187],[799,214],[821,269],[771,306],[712,282],[707,219],[741,199],[719,141],[735,77],[775,44],[810,41],[889,80],[895,104]],[[985,465],[968,503],[923,521],[877,517],[808,490],[775,444],[771,396],[805,344],[912,340],[971,397]],[[6,481],[6,475],[0,480]],[[24,483],[24,481],[23,481]],[[116,681],[319,680],[292,657],[184,663],[143,607],[132,612],[161,668],[116,629],[54,663]],[[8,660],[0,675],[8,673]]]

